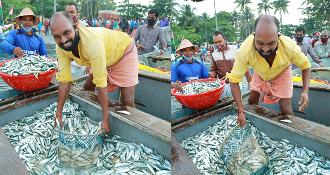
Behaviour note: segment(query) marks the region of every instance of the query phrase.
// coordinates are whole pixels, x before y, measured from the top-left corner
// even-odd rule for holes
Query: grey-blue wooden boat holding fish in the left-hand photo
[[[45,94],[29,97],[18,101],[14,106],[0,107],[0,127],[9,122],[31,116],[41,107],[57,101],[57,90]],[[94,121],[102,121],[102,108],[97,94],[85,91],[79,86],[72,86],[70,91],[72,101],[77,102],[86,110]],[[127,110],[131,115],[118,113]],[[119,135],[128,142],[155,149],[164,158],[171,160],[170,123],[152,115],[133,109],[109,99],[109,117],[111,131],[109,135]],[[4,131],[0,128],[0,167],[1,174],[29,174],[20,161],[16,151],[8,141]]]

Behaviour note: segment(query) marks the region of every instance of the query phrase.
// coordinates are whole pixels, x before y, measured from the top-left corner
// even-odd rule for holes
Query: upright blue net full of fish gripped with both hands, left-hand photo
[[[102,154],[101,123],[78,118],[62,122],[58,128],[60,160],[70,167],[96,164]]]

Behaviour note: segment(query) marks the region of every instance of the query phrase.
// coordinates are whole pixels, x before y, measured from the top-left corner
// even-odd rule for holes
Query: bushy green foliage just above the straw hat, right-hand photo
[[[199,34],[196,34],[195,29],[192,27],[187,27],[187,29],[183,30],[175,22],[171,21],[171,28],[174,35],[176,48],[179,47],[182,37],[189,40],[193,45],[200,46],[203,43],[202,37]]]

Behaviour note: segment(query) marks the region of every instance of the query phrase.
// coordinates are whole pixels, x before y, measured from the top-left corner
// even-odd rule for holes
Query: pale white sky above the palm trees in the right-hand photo
[[[143,0],[139,0],[143,1]],[[214,2],[213,0],[204,0],[204,2],[194,3],[192,1],[184,1],[184,0],[176,0],[176,3],[179,3],[179,5],[186,5],[190,4],[190,6],[196,7],[197,10],[195,11],[196,15],[201,15],[202,13],[206,12],[207,14],[210,14],[210,17],[214,17]],[[225,12],[234,12],[235,8],[237,7],[237,4],[234,3],[235,0],[215,0],[215,9],[216,12],[225,11]],[[258,10],[257,10],[257,4],[261,3],[261,0],[251,0],[252,4],[248,4],[247,6],[250,7],[252,10],[254,10],[255,18],[258,17]],[[272,1],[271,1],[272,2]],[[288,4],[289,7],[287,8],[289,13],[283,14],[282,12],[282,24],[294,24],[299,25],[301,24],[299,19],[301,18],[307,18],[306,16],[302,15],[302,10],[299,10],[298,8],[306,8],[306,4],[304,6],[301,6],[302,0],[290,0],[290,3]],[[180,8],[176,7],[176,9],[179,11]],[[237,8],[236,11],[239,11],[240,8]],[[270,9],[270,15],[274,15],[273,9]],[[268,12],[267,12],[268,13]],[[262,12],[262,14],[265,14],[265,11]],[[275,15],[278,20],[280,20],[280,13],[277,12]]]

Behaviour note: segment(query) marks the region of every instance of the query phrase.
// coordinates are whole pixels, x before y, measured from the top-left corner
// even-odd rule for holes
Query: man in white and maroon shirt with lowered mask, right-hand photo
[[[226,73],[232,72],[235,62],[235,53],[238,48],[236,46],[227,45],[223,32],[218,30],[213,33],[213,42],[217,49],[212,54],[211,72],[209,73],[209,76],[211,78],[218,77],[222,79],[226,76]],[[248,87],[250,87],[252,81],[250,69],[245,73],[245,77],[248,81]],[[230,91],[229,80],[227,79],[225,82],[226,85],[223,88],[222,95],[232,93]]]

